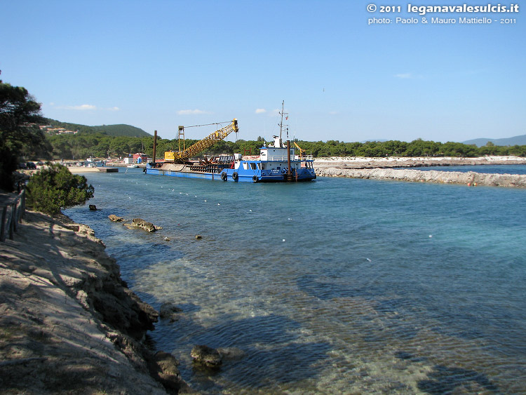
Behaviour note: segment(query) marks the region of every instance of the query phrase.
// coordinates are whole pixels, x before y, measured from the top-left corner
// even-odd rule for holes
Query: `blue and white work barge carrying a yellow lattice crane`
[[[191,154],[202,152],[215,142],[224,139],[232,131],[238,131],[237,119],[229,126],[217,130],[207,138],[182,152],[165,152],[165,160],[152,162],[144,169],[151,175],[169,175],[172,177],[202,178],[205,180],[221,180],[234,182],[296,182],[316,179],[311,156],[299,156],[291,147],[290,140],[283,144],[281,131],[283,129],[283,105],[280,123],[280,135],[274,136],[274,142],[259,148],[259,156],[243,156],[241,154],[220,155],[214,158],[192,161]],[[180,135],[182,126],[180,126]],[[155,145],[154,145],[155,152]],[[155,154],[154,154],[155,157]]]

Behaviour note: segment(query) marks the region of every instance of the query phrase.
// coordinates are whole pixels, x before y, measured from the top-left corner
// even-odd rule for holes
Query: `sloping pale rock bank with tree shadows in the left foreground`
[[[3,394],[192,392],[173,356],[144,345],[158,313],[92,229],[27,211],[0,256]]]

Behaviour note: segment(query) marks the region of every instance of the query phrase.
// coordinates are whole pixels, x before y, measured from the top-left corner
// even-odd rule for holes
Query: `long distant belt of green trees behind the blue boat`
[[[128,138],[125,136],[95,135],[55,135],[48,137],[53,145],[53,156],[56,159],[86,159],[88,156],[128,156],[136,152],[153,155],[153,138]],[[184,147],[188,148],[198,140],[187,139]],[[338,140],[323,141],[296,141],[305,154],[314,157],[321,156],[460,156],[474,157],[485,155],[515,155],[526,156],[526,145],[513,147],[491,146],[476,147],[460,142],[434,142],[417,139],[412,142],[390,140],[384,142],[343,142]],[[241,154],[254,155],[259,152],[264,140],[238,140],[237,142],[220,141],[212,147],[205,149],[203,155]],[[157,159],[162,159],[164,152],[179,149],[177,138],[173,140],[157,139]],[[182,149],[182,144],[181,144]]]

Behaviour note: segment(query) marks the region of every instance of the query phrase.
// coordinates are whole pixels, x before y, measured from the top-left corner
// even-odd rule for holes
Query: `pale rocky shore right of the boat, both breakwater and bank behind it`
[[[314,161],[316,175],[373,180],[439,182],[468,186],[526,188],[526,175],[414,170],[421,166],[463,166],[526,164],[526,158],[489,156],[485,158],[323,158]]]

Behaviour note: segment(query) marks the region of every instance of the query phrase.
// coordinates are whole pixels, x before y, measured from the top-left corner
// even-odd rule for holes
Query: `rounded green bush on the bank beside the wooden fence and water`
[[[29,179],[27,206],[50,215],[58,214],[61,208],[86,203],[94,191],[83,175],[72,174],[66,166],[50,165]]]

